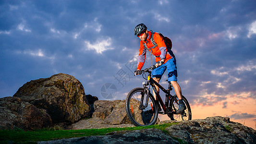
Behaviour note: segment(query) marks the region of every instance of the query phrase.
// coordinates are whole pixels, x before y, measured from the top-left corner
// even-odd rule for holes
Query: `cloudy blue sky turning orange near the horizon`
[[[230,117],[256,129],[255,8],[256,0],[0,0],[0,97],[66,73],[86,95],[125,99],[145,81],[133,74],[134,27],[144,23],[172,40],[192,119]]]

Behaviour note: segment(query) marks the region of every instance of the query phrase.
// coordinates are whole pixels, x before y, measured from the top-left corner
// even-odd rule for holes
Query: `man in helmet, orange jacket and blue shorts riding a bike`
[[[163,73],[166,71],[168,72],[168,81],[171,82],[174,91],[176,95],[179,98],[179,109],[177,110],[177,113],[182,113],[183,110],[186,109],[186,106],[182,100],[182,91],[180,85],[177,83],[177,67],[176,67],[176,59],[171,51],[171,49],[166,47],[166,44],[163,40],[163,37],[160,36],[158,33],[154,33],[153,38],[156,42],[157,46],[154,47],[153,43],[151,42],[151,36],[152,32],[147,31],[147,27],[145,24],[138,24],[134,28],[134,35],[138,36],[140,38],[140,48],[139,48],[139,56],[138,56],[138,63],[137,63],[137,70],[134,71],[135,75],[141,74],[141,69],[144,65],[144,62],[146,60],[146,48],[144,47],[144,44],[146,44],[146,47],[148,50],[156,56],[155,61],[156,63],[156,69],[152,71],[152,78],[159,83]],[[159,92],[159,87],[157,86],[157,91]],[[154,97],[156,97],[156,94],[153,93]],[[156,99],[158,104],[158,110],[160,110],[160,105],[158,99]]]

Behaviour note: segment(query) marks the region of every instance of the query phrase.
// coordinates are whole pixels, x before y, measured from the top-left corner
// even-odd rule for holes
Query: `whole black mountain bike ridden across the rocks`
[[[190,105],[187,99],[182,96],[183,102],[185,103],[186,109],[177,114],[176,111],[179,108],[179,99],[176,95],[172,96],[170,94],[172,90],[171,82],[169,83],[168,89],[166,90],[160,84],[158,84],[155,80],[151,78],[151,71],[153,70],[155,65],[142,70],[143,78],[146,79],[146,82],[143,82],[143,87],[137,87],[132,89],[126,97],[125,101],[125,109],[128,116],[128,119],[135,126],[148,126],[153,125],[158,120],[159,114],[167,114],[171,120],[191,120],[192,113]],[[146,77],[146,73],[147,77]],[[166,80],[167,81],[167,80]],[[156,97],[162,107],[161,112],[158,112],[157,102],[150,93],[150,86],[156,94]],[[157,91],[156,86],[159,87],[165,93],[165,103],[161,99],[159,92]]]

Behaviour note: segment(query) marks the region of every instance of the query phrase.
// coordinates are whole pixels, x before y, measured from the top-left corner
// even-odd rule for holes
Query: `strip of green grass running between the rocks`
[[[84,130],[37,130],[37,131],[23,131],[21,129],[16,130],[0,130],[0,144],[12,142],[37,142],[37,141],[51,141],[57,139],[83,137],[92,135],[105,135],[114,131],[133,131],[141,129],[159,129],[168,133],[165,129],[173,124],[166,123],[161,125],[151,125],[146,127],[129,127],[129,128],[105,128],[105,129],[84,129]]]

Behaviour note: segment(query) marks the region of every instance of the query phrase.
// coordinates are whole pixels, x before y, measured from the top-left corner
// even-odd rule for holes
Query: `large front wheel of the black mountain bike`
[[[125,108],[127,117],[135,126],[153,125],[157,121],[156,101],[152,94],[149,93],[148,102],[146,102],[146,96],[144,88],[137,87],[131,90],[126,97]]]

